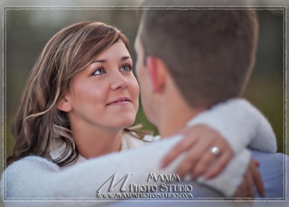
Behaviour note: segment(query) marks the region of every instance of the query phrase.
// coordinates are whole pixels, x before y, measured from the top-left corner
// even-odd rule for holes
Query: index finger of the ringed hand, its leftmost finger
[[[183,138],[162,159],[161,168],[166,167],[169,163],[175,160],[180,154],[190,149],[195,144],[196,141],[197,141],[197,137],[194,136],[193,134],[190,137]]]

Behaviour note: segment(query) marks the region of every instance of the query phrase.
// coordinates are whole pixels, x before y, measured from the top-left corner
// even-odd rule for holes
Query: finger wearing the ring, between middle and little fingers
[[[215,158],[216,155],[213,153],[205,153],[204,156],[200,157],[200,159],[196,161],[195,167],[191,170],[191,174],[195,177],[200,176],[210,167]]]

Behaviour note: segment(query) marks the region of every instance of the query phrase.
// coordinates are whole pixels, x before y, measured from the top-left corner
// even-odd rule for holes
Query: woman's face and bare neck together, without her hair
[[[122,130],[135,120],[138,95],[132,60],[121,40],[71,80],[57,108],[67,112],[82,156],[93,158],[120,150]]]

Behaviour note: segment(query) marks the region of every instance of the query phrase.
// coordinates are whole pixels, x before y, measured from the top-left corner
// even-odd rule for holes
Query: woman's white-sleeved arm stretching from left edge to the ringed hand
[[[149,175],[174,173],[179,159],[166,169],[160,169],[159,163],[164,154],[181,138],[179,136],[160,140],[129,151],[93,158],[65,170],[41,157],[25,157],[11,164],[3,173],[2,198],[5,202],[8,198],[98,199],[97,190],[115,173],[118,173],[115,175],[115,184],[127,174],[133,173],[129,176],[125,189],[129,188],[130,184],[155,184],[159,188],[165,182],[155,183],[154,179],[149,179]],[[123,181],[116,185],[111,193],[119,192]],[[107,193],[110,183],[111,180],[100,193]],[[97,202],[94,205],[98,203],[101,204]]]

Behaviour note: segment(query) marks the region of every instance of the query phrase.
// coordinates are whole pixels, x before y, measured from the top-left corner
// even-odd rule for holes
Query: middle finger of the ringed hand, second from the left
[[[193,169],[196,161],[200,158],[201,155],[207,151],[208,147],[211,145],[211,142],[197,142],[187,153],[184,160],[180,163],[177,168],[177,174],[183,177],[186,173]]]

